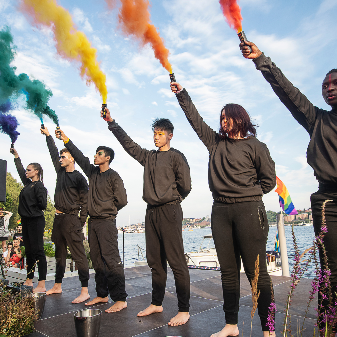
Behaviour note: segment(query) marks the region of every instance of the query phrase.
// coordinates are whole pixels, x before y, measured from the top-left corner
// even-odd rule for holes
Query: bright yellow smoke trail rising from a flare
[[[106,103],[105,74],[97,61],[97,50],[91,47],[87,36],[78,31],[70,13],[56,0],[20,0],[20,9],[33,20],[35,26],[49,27],[54,33],[57,53],[67,60],[81,63],[81,77],[87,85],[93,83]]]

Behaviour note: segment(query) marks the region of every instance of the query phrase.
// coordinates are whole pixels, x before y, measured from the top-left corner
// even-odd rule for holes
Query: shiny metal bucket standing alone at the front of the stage
[[[102,311],[98,309],[81,310],[74,313],[77,337],[98,337]]]

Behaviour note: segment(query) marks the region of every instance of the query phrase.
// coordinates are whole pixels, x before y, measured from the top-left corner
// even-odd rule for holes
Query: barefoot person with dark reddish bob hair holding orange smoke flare
[[[275,332],[269,332],[267,327],[272,296],[266,265],[269,226],[262,202],[262,196],[276,184],[275,163],[267,146],[255,138],[256,125],[251,123],[241,105],[226,104],[221,109],[218,133],[203,121],[179,83],[171,83],[171,90],[176,93],[187,120],[210,154],[208,183],[214,199],[211,226],[221,269],[226,319],[225,327],[212,337],[239,335],[240,257],[251,282],[258,255],[258,315],[264,336],[275,336]]]

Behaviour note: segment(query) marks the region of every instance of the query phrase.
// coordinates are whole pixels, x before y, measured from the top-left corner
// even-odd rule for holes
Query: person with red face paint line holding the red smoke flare
[[[312,222],[315,235],[321,232],[322,205],[325,200],[332,200],[325,207],[325,221],[328,232],[324,237],[328,256],[328,267],[331,271],[330,282],[332,294],[337,292],[337,69],[330,70],[322,84],[322,95],[331,110],[317,108],[300,90],[283,75],[282,71],[266,57],[253,42],[246,42],[251,48],[240,43],[242,55],[251,59],[257,70],[260,70],[270,83],[272,89],[293,117],[309,133],[310,142],[307,149],[307,162],[313,168],[318,180],[318,191],[311,194]],[[321,268],[324,268],[323,255],[319,251]],[[329,305],[325,295],[318,294],[321,305]],[[334,297],[333,301],[336,300]],[[324,314],[322,307],[321,313]],[[321,323],[320,333],[325,336],[325,324]],[[337,324],[333,333],[337,331]]]

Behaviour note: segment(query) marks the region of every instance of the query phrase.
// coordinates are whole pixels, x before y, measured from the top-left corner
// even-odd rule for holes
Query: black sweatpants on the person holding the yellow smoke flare
[[[167,264],[176,283],[179,311],[188,312],[189,271],[184,255],[183,211],[180,204],[151,207],[145,216],[146,257],[152,273],[152,302],[161,305],[165,296]]]

